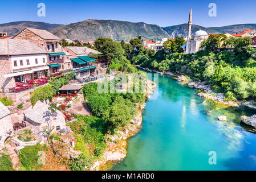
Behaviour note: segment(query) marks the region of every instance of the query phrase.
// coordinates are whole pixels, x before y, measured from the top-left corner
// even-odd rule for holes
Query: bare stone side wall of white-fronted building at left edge
[[[9,56],[0,56],[0,91],[9,92],[9,88],[15,86],[14,78],[5,78],[3,75],[9,74],[12,71],[11,59]]]

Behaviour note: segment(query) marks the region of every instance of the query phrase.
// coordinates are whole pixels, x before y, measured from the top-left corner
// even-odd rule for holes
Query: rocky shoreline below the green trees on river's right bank
[[[220,104],[228,105],[228,106],[246,106],[250,107],[253,109],[256,109],[256,102],[255,101],[245,101],[245,102],[240,102],[240,101],[225,101],[225,97],[223,93],[216,93],[214,92],[211,88],[210,85],[207,84],[206,81],[193,81],[189,80],[188,77],[186,77],[182,73],[173,73],[173,72],[159,72],[156,71],[155,69],[149,69],[149,68],[143,68],[138,65],[136,65],[137,68],[143,69],[148,72],[153,72],[153,73],[159,73],[160,75],[167,75],[173,77],[175,80],[183,83],[187,83],[189,86],[191,86],[194,89],[200,90],[200,93],[197,95],[200,97],[204,97],[206,99],[218,102]]]

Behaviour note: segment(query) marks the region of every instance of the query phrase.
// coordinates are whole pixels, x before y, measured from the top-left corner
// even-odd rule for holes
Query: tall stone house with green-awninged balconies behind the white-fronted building
[[[13,39],[31,40],[48,52],[47,63],[50,72],[71,68],[70,56],[66,56],[62,47],[62,40],[46,30],[25,28]]]

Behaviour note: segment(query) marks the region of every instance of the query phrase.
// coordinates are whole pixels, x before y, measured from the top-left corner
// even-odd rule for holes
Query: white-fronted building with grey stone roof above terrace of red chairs
[[[46,75],[47,52],[30,40],[0,39],[0,90]]]

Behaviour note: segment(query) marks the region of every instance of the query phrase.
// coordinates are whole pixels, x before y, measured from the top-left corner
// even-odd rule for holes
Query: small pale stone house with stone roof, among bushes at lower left
[[[44,140],[45,131],[52,130],[52,133],[66,128],[65,116],[56,110],[51,113],[48,105],[38,101],[36,104],[24,112],[25,121],[31,123],[36,135],[36,140]]]

